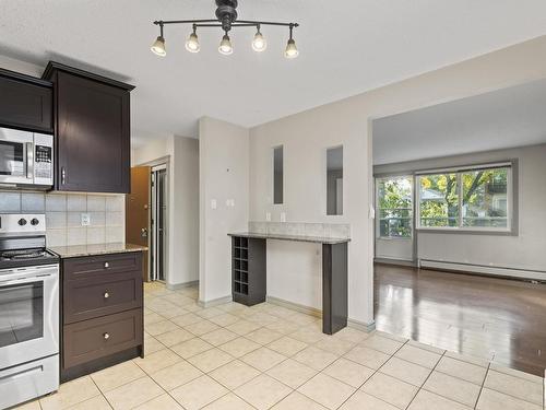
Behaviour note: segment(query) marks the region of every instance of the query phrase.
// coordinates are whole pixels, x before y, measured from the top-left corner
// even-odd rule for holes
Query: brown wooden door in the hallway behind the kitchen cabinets
[[[126,200],[126,242],[150,247],[150,166],[131,168],[131,194]],[[150,251],[142,253],[142,279],[150,280]]]

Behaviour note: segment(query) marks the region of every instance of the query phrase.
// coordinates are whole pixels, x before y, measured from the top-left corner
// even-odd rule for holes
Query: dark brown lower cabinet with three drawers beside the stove
[[[61,380],[143,355],[142,253],[62,261]]]

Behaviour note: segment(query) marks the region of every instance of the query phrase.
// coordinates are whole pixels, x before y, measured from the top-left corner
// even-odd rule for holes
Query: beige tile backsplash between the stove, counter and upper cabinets
[[[45,213],[47,245],[124,241],[124,195],[0,191],[0,213]],[[88,213],[91,224],[81,225]]]

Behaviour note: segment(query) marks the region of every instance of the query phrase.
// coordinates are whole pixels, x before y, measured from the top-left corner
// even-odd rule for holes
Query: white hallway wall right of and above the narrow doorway
[[[132,151],[132,165],[168,161],[167,285],[199,279],[199,141],[186,137],[153,139]]]

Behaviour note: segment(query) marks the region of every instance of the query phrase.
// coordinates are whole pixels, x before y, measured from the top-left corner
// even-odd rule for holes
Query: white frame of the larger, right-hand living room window
[[[507,226],[490,227],[490,226],[464,226],[463,224],[463,192],[462,174],[477,172],[482,169],[507,168]],[[420,224],[420,177],[426,175],[438,174],[456,174],[456,192],[458,192],[458,225],[456,226],[422,226]],[[470,165],[461,167],[436,168],[415,173],[415,230],[418,232],[438,232],[438,233],[470,233],[470,234],[500,234],[500,235],[517,235],[517,198],[518,194],[517,178],[518,163],[517,161]]]

